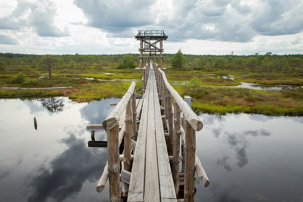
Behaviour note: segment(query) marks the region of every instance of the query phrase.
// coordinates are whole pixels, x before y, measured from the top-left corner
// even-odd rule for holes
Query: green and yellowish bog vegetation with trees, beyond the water
[[[138,54],[25,55],[0,53],[0,87],[58,87],[70,89],[0,89],[1,97],[69,96],[79,102],[122,96],[132,79],[137,92],[142,72]],[[164,54],[168,80],[181,94],[193,97],[197,110],[226,113],[303,114],[303,55],[223,56]],[[222,76],[234,75],[235,79]],[[240,81],[263,85],[292,85],[295,89],[227,88]]]

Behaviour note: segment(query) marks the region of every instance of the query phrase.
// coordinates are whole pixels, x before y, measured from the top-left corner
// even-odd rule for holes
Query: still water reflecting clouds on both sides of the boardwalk
[[[0,201],[109,201],[108,185],[95,190],[107,150],[87,147],[86,125],[118,101],[0,99]],[[200,118],[196,152],[211,185],[196,184],[196,201],[303,201],[303,117]]]

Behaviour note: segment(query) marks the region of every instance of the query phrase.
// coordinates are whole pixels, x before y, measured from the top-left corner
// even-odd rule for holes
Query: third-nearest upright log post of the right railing
[[[173,133],[173,128],[174,128],[174,123],[173,123],[173,109],[172,109],[172,95],[167,90],[167,119],[168,119],[168,128],[169,128],[169,156],[173,155],[173,145],[174,145],[174,133]]]

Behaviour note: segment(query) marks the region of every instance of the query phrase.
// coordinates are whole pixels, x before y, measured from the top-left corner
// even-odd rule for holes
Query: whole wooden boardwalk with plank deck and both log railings
[[[136,96],[132,82],[103,124],[88,126],[103,127],[108,138],[95,141],[92,130],[88,142],[108,147],[96,189],[103,191],[109,180],[111,201],[120,201],[121,185],[123,201],[194,201],[195,179],[204,187],[210,184],[195,154],[195,131],[203,124],[156,63],[146,64],[142,80],[143,95]]]

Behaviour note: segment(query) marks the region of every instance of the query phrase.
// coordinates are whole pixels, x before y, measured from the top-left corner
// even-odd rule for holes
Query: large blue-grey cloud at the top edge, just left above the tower
[[[153,3],[140,0],[74,0],[74,4],[88,18],[88,26],[113,33],[153,24],[155,18],[150,7]]]

